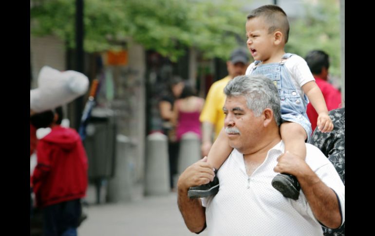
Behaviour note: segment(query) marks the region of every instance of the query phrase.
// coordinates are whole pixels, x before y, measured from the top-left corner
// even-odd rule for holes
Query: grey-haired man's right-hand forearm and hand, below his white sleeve
[[[335,192],[319,179],[304,160],[294,154],[286,152],[278,161],[274,171],[290,173],[297,177],[315,218],[328,228],[340,227],[341,214]]]

